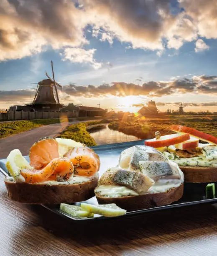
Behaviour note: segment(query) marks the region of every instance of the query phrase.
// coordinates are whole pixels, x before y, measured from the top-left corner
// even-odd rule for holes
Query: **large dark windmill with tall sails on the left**
[[[51,61],[51,69],[53,79],[51,79],[47,72],[45,72],[48,79],[38,82],[36,94],[32,104],[60,104],[58,90],[61,90],[62,87],[60,84],[55,82],[53,61]]]

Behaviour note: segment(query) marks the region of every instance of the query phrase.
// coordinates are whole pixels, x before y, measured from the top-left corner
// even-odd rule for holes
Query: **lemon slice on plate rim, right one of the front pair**
[[[86,203],[81,203],[81,207],[83,210],[87,212],[92,212],[105,217],[116,217],[116,216],[124,215],[127,212],[126,210],[118,207],[115,204],[89,205]]]

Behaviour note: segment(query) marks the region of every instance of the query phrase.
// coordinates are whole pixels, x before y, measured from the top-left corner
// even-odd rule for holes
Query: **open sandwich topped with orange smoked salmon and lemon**
[[[30,149],[28,162],[18,149],[10,152],[5,178],[11,200],[60,204],[87,200],[97,187],[99,156],[69,139],[43,138]]]

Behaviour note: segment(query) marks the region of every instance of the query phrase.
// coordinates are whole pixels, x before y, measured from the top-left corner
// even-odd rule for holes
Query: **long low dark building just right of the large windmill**
[[[102,108],[78,106],[70,103],[67,107],[61,108],[60,112],[66,113],[68,118],[104,116],[107,112]]]

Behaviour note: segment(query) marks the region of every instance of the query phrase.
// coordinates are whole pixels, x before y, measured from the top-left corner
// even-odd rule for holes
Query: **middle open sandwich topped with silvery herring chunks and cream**
[[[139,210],[179,200],[183,182],[176,163],[155,148],[141,145],[121,152],[118,165],[102,174],[94,192],[99,204]]]

